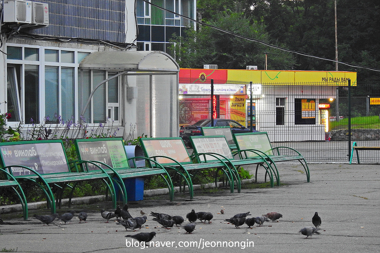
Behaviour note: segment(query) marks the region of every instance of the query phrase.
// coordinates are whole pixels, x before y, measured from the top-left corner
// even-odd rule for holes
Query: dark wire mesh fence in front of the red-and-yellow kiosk
[[[214,118],[235,120],[249,128],[249,83],[228,81],[226,84],[214,80],[214,95],[211,96],[211,83],[207,81],[203,86],[194,85],[194,90],[180,90],[180,126],[212,119],[214,115]],[[179,80],[180,85],[192,82],[199,83],[199,80]],[[354,141],[361,146],[380,145],[378,82],[351,86],[350,108],[347,86],[316,83],[254,85],[260,93],[252,92],[253,129],[268,132],[274,147],[292,147],[308,161],[326,162],[348,161]],[[359,152],[361,161],[378,162],[376,151]]]

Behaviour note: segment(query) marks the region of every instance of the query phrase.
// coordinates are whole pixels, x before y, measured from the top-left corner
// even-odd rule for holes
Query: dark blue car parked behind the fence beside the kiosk
[[[211,119],[203,119],[196,122],[194,125],[181,126],[179,128],[179,136],[182,137],[184,142],[190,142],[190,136],[201,136],[201,127],[211,126]],[[232,133],[249,133],[250,129],[236,122],[235,120],[228,119],[214,119],[214,126],[230,126]],[[253,132],[257,132],[253,130]]]

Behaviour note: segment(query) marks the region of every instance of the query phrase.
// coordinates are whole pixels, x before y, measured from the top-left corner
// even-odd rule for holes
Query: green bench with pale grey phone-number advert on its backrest
[[[274,187],[273,174],[277,180],[277,170],[266,161],[261,154],[252,159],[235,159],[231,149],[228,145],[225,136],[190,136],[190,142],[194,148],[194,153],[198,162],[215,162],[215,157],[222,158],[222,160],[228,160],[233,164],[235,168],[239,169],[241,166],[256,164],[256,182],[257,182],[257,169],[259,166],[263,166],[266,170],[265,176],[269,175],[271,187]],[[208,154],[213,154],[208,155]],[[277,181],[279,185],[279,181]]]

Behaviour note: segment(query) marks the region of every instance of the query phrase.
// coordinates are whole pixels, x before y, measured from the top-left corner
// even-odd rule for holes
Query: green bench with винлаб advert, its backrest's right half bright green
[[[129,160],[133,161],[134,167],[136,167],[137,159],[149,160],[155,164],[154,168],[146,168],[145,166],[142,168],[131,168],[122,138],[76,139],[74,143],[78,156],[82,160],[92,162],[92,164],[85,164],[89,171],[102,169],[119,183],[123,181],[122,179],[126,178],[160,175],[168,185],[170,201],[174,200],[173,182],[171,182],[166,169],[159,163],[146,157],[131,157]],[[124,192],[123,196],[127,197],[127,192]],[[126,202],[127,199],[124,201]]]

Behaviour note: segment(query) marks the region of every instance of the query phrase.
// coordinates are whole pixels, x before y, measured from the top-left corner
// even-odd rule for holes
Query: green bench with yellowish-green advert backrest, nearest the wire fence
[[[241,159],[257,157],[256,153],[247,151],[255,150],[266,154],[270,163],[297,160],[305,169],[307,182],[310,182],[309,166],[301,153],[285,146],[272,148],[267,132],[234,134],[234,140]]]

